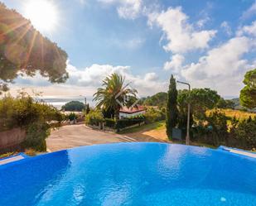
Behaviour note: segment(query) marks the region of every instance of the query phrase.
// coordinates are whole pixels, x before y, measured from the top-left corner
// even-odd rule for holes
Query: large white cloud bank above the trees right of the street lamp
[[[223,95],[237,95],[245,71],[251,69],[248,60],[243,59],[250,47],[249,38],[234,37],[209,50],[197,63],[186,65],[181,74],[194,87],[210,87]]]

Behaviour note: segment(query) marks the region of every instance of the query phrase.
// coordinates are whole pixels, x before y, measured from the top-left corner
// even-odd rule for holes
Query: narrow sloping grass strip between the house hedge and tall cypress
[[[162,128],[165,128],[165,120],[159,121],[159,122],[153,122],[149,124],[143,124],[142,126],[138,127],[133,127],[133,128],[128,128],[124,129],[121,132],[118,132],[119,134],[124,134],[124,133],[132,133],[132,132],[140,132],[142,130],[162,130]]]

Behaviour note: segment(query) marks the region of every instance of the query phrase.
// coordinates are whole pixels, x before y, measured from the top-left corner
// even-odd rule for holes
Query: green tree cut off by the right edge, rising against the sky
[[[245,87],[240,91],[240,103],[245,108],[256,108],[256,69],[244,75]]]

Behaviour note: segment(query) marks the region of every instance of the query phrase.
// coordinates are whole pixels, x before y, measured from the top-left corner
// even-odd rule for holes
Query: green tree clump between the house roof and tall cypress
[[[142,98],[141,104],[147,106],[167,107],[167,93],[156,93],[151,97]]]

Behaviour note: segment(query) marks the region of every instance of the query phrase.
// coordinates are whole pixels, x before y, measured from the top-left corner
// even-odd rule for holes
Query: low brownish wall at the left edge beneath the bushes
[[[22,128],[0,132],[0,154],[8,151],[20,151],[22,149],[21,143],[25,138],[26,132]]]

